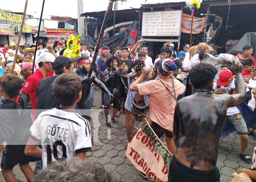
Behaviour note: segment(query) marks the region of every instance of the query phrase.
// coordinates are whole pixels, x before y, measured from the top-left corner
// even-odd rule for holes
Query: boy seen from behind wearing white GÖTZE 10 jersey
[[[25,154],[41,158],[43,168],[59,159],[86,159],[91,150],[89,122],[75,112],[82,96],[80,79],[73,74],[61,74],[53,82],[53,95],[60,107],[39,114],[30,128],[31,136]],[[42,149],[37,147],[41,141]]]

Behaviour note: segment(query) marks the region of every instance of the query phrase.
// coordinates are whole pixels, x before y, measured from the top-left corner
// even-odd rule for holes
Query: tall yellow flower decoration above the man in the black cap
[[[75,58],[81,56],[80,53],[80,36],[78,34],[70,33],[67,41],[67,50],[63,53],[63,56],[68,58]]]

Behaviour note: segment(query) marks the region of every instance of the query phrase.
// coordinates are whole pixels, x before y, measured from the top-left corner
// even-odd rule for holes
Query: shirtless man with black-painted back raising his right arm
[[[169,182],[219,182],[216,167],[218,142],[227,108],[237,106],[246,98],[242,64],[233,65],[238,93],[211,94],[215,67],[201,63],[189,72],[196,93],[178,101],[174,111],[173,139],[175,156],[169,167]]]

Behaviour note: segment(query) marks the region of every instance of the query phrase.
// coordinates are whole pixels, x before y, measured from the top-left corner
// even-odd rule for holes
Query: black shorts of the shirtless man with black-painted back
[[[220,182],[221,175],[216,167],[211,171],[192,169],[180,163],[173,155],[169,166],[169,182]]]

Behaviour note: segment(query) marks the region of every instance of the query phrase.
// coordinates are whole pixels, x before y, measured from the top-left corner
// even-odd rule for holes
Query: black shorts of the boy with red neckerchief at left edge
[[[30,156],[25,155],[26,145],[6,145],[3,150],[1,167],[12,169],[15,165],[25,165],[30,161]]]

